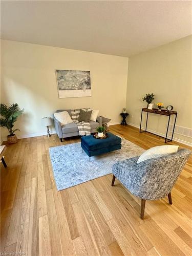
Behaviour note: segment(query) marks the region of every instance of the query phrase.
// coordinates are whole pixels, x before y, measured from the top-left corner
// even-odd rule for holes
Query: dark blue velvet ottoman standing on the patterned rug
[[[89,157],[98,156],[114,150],[121,149],[121,138],[108,133],[106,139],[96,139],[93,135],[81,137],[81,147]]]

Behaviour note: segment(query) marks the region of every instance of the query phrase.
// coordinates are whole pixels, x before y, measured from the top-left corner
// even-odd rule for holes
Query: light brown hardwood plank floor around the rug
[[[113,125],[110,131],[144,149],[164,144],[128,125]],[[191,255],[192,157],[172,190],[173,205],[167,197],[147,201],[141,220],[140,199],[117,179],[112,187],[112,175],[57,191],[48,149],[78,141],[60,142],[53,135],[8,145],[8,167],[1,165],[1,252]]]

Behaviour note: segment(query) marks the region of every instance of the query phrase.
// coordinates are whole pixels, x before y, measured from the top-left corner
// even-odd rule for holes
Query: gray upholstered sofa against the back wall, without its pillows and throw
[[[58,113],[62,111],[67,111],[71,116],[71,110],[57,110],[56,112]],[[102,126],[102,117],[101,116],[97,117],[97,122],[90,121],[90,125],[91,125],[91,133],[95,133],[96,127]],[[76,123],[68,123],[61,126],[60,122],[54,117],[54,126],[55,126],[55,131],[61,142],[63,138],[69,138],[69,137],[79,135],[79,131]]]

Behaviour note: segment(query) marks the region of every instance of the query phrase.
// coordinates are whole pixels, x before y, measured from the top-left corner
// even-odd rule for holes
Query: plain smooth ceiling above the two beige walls
[[[1,1],[1,38],[131,56],[192,34],[191,1]]]

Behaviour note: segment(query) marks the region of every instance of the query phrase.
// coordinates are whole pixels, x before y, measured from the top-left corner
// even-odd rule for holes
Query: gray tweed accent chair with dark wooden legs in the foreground
[[[141,219],[144,217],[145,201],[168,196],[176,183],[190,150],[179,149],[177,153],[137,163],[139,156],[119,161],[112,167],[112,186],[117,178],[133,195],[141,198]]]

